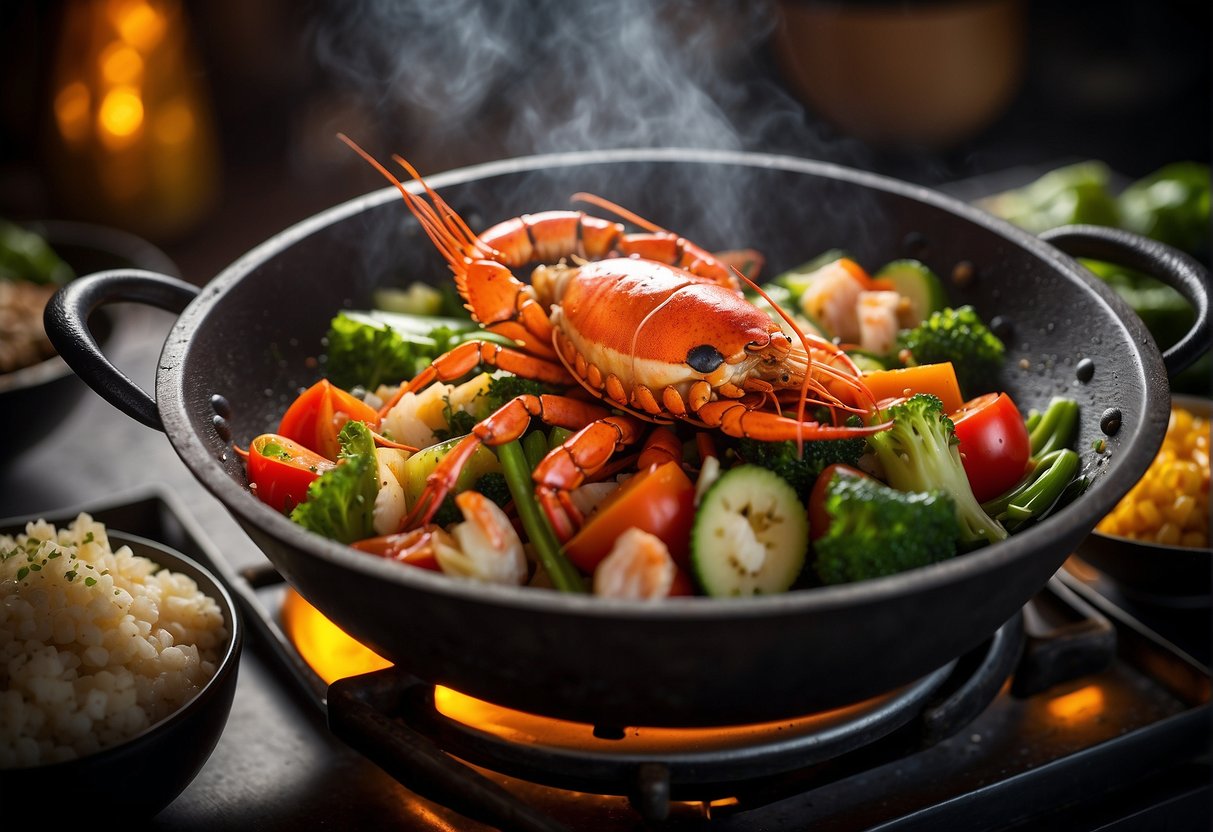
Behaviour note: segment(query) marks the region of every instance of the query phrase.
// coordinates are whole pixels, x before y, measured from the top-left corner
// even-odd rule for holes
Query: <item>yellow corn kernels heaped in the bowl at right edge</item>
[[[1174,405],[1158,456],[1098,530],[1168,546],[1209,545],[1209,420]]]

